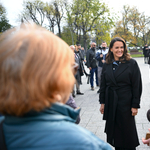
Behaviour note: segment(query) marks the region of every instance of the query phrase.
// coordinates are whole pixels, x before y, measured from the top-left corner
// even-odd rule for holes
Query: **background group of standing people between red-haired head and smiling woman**
[[[70,48],[74,52],[75,62],[78,64],[78,71],[75,75],[76,78],[76,94],[83,95],[80,91],[80,85],[82,84],[81,77],[85,74],[90,78],[91,90],[94,91],[94,75],[96,86],[99,87],[97,93],[100,93],[101,72],[103,64],[105,63],[108,48],[106,42],[102,42],[100,47],[96,47],[96,43],[92,42],[91,47],[85,52],[84,47],[81,44],[71,45]],[[85,58],[86,57],[86,58]],[[84,67],[89,69],[89,74]],[[75,97],[75,89],[72,91],[73,97]]]

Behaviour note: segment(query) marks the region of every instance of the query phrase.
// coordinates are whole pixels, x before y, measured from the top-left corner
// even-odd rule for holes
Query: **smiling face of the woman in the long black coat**
[[[114,55],[115,61],[119,60],[119,58],[123,56],[124,52],[123,42],[116,41],[110,50]]]

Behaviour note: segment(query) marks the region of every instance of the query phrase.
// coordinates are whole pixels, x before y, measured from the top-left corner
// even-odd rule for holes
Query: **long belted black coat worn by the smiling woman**
[[[134,148],[139,145],[131,108],[140,108],[141,92],[141,73],[135,60],[121,63],[115,72],[113,64],[104,64],[99,101],[105,104],[105,132],[112,146]]]

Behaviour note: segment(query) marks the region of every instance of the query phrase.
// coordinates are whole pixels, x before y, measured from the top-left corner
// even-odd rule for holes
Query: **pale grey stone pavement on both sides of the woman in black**
[[[150,148],[147,145],[144,145],[141,139],[142,137],[145,137],[148,128],[150,128],[150,123],[146,117],[146,112],[150,108],[150,67],[148,64],[144,64],[143,57],[134,59],[136,59],[139,64],[143,83],[141,109],[139,109],[138,115],[136,116],[136,125],[140,141],[137,150],[148,150]],[[87,69],[86,66],[85,69]],[[106,135],[104,133],[105,121],[102,120],[102,115],[99,111],[98,87],[96,87],[94,91],[91,91],[90,84],[87,84],[87,78],[85,76],[82,77],[82,82],[83,84],[80,88],[81,92],[84,92],[84,95],[76,95],[75,97],[77,106],[81,107],[81,121],[79,125],[90,130],[100,139],[106,141]]]

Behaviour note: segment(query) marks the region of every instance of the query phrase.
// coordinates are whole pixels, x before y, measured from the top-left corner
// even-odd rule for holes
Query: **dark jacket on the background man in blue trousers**
[[[96,54],[95,54],[95,50],[93,49],[89,49],[87,51],[87,55],[86,55],[86,65],[87,67],[91,67],[91,68],[96,68],[97,67],[97,60],[95,58]]]

